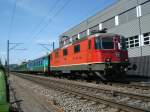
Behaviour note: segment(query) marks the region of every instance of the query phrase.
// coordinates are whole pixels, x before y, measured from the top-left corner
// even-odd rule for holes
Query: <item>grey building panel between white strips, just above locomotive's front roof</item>
[[[103,22],[103,28],[111,29],[115,27],[115,17]]]

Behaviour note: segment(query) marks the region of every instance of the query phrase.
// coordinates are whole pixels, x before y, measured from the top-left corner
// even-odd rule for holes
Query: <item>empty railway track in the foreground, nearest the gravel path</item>
[[[141,94],[109,90],[107,88],[92,87],[71,81],[53,80],[50,78],[35,77],[31,75],[17,75],[24,79],[34,81],[47,88],[67,92],[90,101],[103,103],[127,112],[150,112],[150,97]],[[146,106],[141,106],[146,105]]]

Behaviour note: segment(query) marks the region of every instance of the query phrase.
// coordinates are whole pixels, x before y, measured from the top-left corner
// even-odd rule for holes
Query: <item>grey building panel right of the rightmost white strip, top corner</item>
[[[141,5],[142,8],[142,15],[150,14],[150,1],[143,3]]]

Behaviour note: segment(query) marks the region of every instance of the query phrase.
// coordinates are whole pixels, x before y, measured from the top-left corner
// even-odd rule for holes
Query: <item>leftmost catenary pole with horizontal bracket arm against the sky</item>
[[[9,40],[7,40],[7,75],[9,77],[9,55],[10,55],[10,51],[11,50],[26,50],[26,49],[15,49],[17,46],[21,45],[23,43],[10,43]],[[13,45],[12,47],[10,47],[10,45]]]

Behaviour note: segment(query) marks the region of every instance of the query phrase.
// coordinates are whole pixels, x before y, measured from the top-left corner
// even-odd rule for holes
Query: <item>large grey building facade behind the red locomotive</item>
[[[130,61],[138,66],[129,74],[150,76],[150,0],[118,0],[60,35],[60,46],[103,28],[126,37]]]

